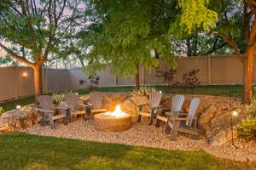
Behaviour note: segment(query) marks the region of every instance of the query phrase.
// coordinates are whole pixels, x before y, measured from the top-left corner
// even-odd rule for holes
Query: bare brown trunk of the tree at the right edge
[[[243,99],[245,104],[250,104],[253,101],[253,70],[254,70],[254,54],[255,48],[248,47],[247,58],[244,63],[244,93]]]

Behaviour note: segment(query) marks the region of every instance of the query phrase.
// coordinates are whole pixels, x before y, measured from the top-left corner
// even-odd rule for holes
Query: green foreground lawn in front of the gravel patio
[[[26,133],[2,134],[0,141],[3,170],[252,170],[256,166],[203,151],[157,150]]]

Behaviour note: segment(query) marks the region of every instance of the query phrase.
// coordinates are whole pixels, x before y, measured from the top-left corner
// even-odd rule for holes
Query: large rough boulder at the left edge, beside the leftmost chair
[[[34,109],[27,111],[12,110],[0,116],[0,133],[20,131],[40,122],[42,116]]]

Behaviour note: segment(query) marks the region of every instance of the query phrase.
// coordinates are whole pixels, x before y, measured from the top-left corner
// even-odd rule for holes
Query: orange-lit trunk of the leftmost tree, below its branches
[[[41,65],[34,65],[34,87],[35,95],[39,96],[42,94],[42,67]]]

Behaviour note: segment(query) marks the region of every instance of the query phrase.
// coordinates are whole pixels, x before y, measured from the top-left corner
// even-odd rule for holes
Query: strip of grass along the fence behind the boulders
[[[241,85],[206,85],[199,86],[197,88],[172,88],[169,86],[151,86],[152,88],[157,88],[165,93],[170,94],[205,94],[205,95],[215,95],[215,96],[230,96],[232,93],[235,97],[241,97]],[[131,92],[134,90],[134,86],[122,86],[122,87],[108,87],[108,88],[96,88],[99,92]],[[79,94],[89,94],[88,89],[74,90]],[[34,102],[34,97],[28,97],[25,99],[18,99],[13,101],[8,101],[0,104],[5,111],[15,109],[16,105],[28,105]]]

